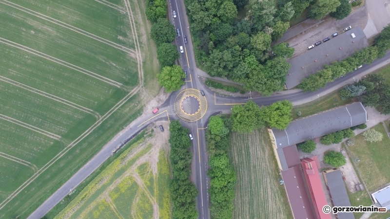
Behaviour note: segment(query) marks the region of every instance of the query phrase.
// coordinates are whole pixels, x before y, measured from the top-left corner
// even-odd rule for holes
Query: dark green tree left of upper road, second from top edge
[[[167,18],[159,18],[152,25],[150,37],[155,40],[157,46],[162,43],[171,43],[176,37],[175,26]]]

